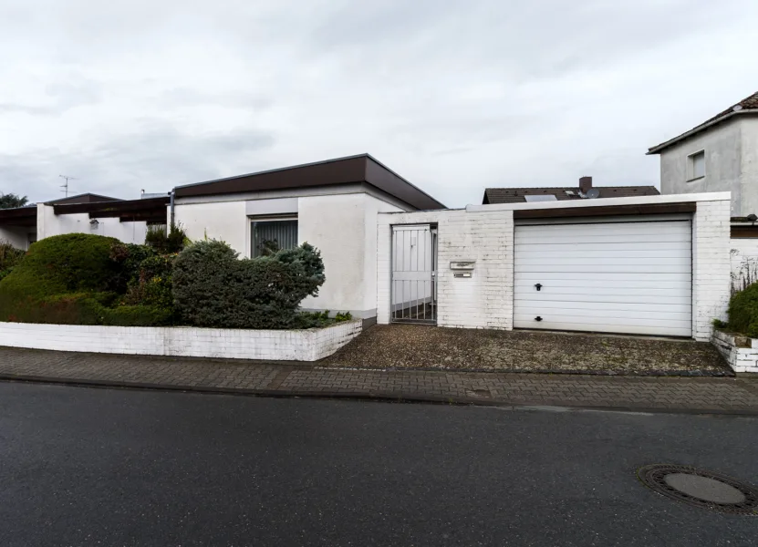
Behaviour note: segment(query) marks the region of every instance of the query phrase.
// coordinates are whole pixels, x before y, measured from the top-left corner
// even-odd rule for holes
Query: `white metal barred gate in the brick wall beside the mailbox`
[[[392,226],[391,319],[437,323],[437,227]]]

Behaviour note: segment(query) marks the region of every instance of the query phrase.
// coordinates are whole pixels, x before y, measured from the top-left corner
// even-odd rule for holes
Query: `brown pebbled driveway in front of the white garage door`
[[[704,342],[617,335],[376,325],[319,366],[645,376],[732,376]]]

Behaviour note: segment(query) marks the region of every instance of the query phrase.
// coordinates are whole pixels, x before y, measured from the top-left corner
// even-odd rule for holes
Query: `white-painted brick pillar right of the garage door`
[[[730,201],[699,201],[692,221],[692,336],[711,339],[714,318],[729,304]]]

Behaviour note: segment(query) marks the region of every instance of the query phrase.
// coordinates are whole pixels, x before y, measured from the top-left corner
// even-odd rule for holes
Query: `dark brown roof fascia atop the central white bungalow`
[[[174,191],[177,198],[185,198],[355,183],[369,184],[415,209],[444,209],[445,207],[441,201],[435,200],[369,154],[185,184],[177,186]]]

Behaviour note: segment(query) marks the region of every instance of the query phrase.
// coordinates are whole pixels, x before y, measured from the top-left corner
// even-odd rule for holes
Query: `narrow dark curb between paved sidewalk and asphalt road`
[[[688,414],[688,415],[722,415],[758,417],[758,408],[726,409],[726,408],[659,408],[659,407],[629,407],[629,406],[587,406],[572,402],[555,401],[545,404],[545,401],[509,402],[493,401],[479,397],[443,397],[423,393],[403,392],[345,392],[345,391],[291,391],[286,389],[246,389],[242,387],[210,387],[210,386],[181,386],[171,384],[150,384],[142,382],[113,382],[109,380],[87,380],[58,377],[36,377],[25,375],[0,374],[0,382],[18,382],[26,384],[47,384],[70,387],[95,387],[106,389],[135,389],[145,391],[178,391],[206,395],[235,395],[244,397],[270,398],[320,398],[336,400],[357,400],[392,403],[426,403],[437,405],[454,405],[466,407],[496,407],[521,409],[568,409],[575,411],[596,412],[628,412],[644,414]]]

